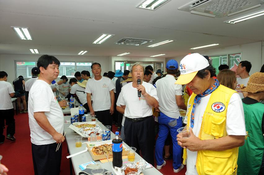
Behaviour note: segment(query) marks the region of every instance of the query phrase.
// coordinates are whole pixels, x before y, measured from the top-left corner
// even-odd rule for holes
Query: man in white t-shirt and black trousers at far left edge
[[[7,82],[7,73],[0,71],[0,143],[4,143],[5,136],[3,135],[5,120],[7,125],[7,139],[15,141],[15,119],[14,119],[14,108],[11,101],[11,97],[15,96],[15,91],[11,83]]]

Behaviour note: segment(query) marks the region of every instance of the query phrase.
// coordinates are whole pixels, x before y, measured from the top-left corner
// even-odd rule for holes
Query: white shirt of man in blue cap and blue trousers
[[[167,75],[156,81],[156,90],[159,97],[159,110],[168,117],[177,119],[180,112],[175,96],[182,96],[182,86],[174,83],[174,76]]]

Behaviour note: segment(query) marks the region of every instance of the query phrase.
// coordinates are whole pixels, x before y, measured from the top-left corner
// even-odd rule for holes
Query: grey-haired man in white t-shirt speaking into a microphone
[[[154,118],[152,107],[158,108],[158,96],[156,88],[150,83],[143,82],[144,66],[136,62],[131,67],[131,83],[123,86],[119,94],[117,110],[126,117],[124,133],[127,144],[136,147],[136,152],[150,164],[154,165]],[[137,79],[141,83],[137,84]],[[138,97],[138,91],[141,96]]]

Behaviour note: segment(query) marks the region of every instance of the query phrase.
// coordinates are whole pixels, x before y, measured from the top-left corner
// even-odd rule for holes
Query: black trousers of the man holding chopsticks
[[[59,175],[62,144],[56,152],[57,143],[35,145],[31,143],[35,175]]]

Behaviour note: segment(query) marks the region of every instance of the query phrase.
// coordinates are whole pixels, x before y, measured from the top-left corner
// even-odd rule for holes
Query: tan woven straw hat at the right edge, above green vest
[[[247,87],[241,87],[241,91],[249,93],[264,92],[264,73],[256,72],[249,77]]]

